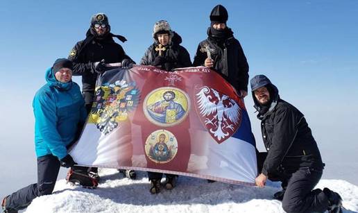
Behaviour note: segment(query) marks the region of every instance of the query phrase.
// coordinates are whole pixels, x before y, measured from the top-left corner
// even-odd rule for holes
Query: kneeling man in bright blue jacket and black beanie
[[[59,58],[46,71],[46,85],[33,99],[37,183],[3,198],[3,212],[22,210],[37,196],[51,194],[61,167],[72,167],[74,160],[67,146],[80,135],[87,113],[80,87],[72,82],[72,62]]]

